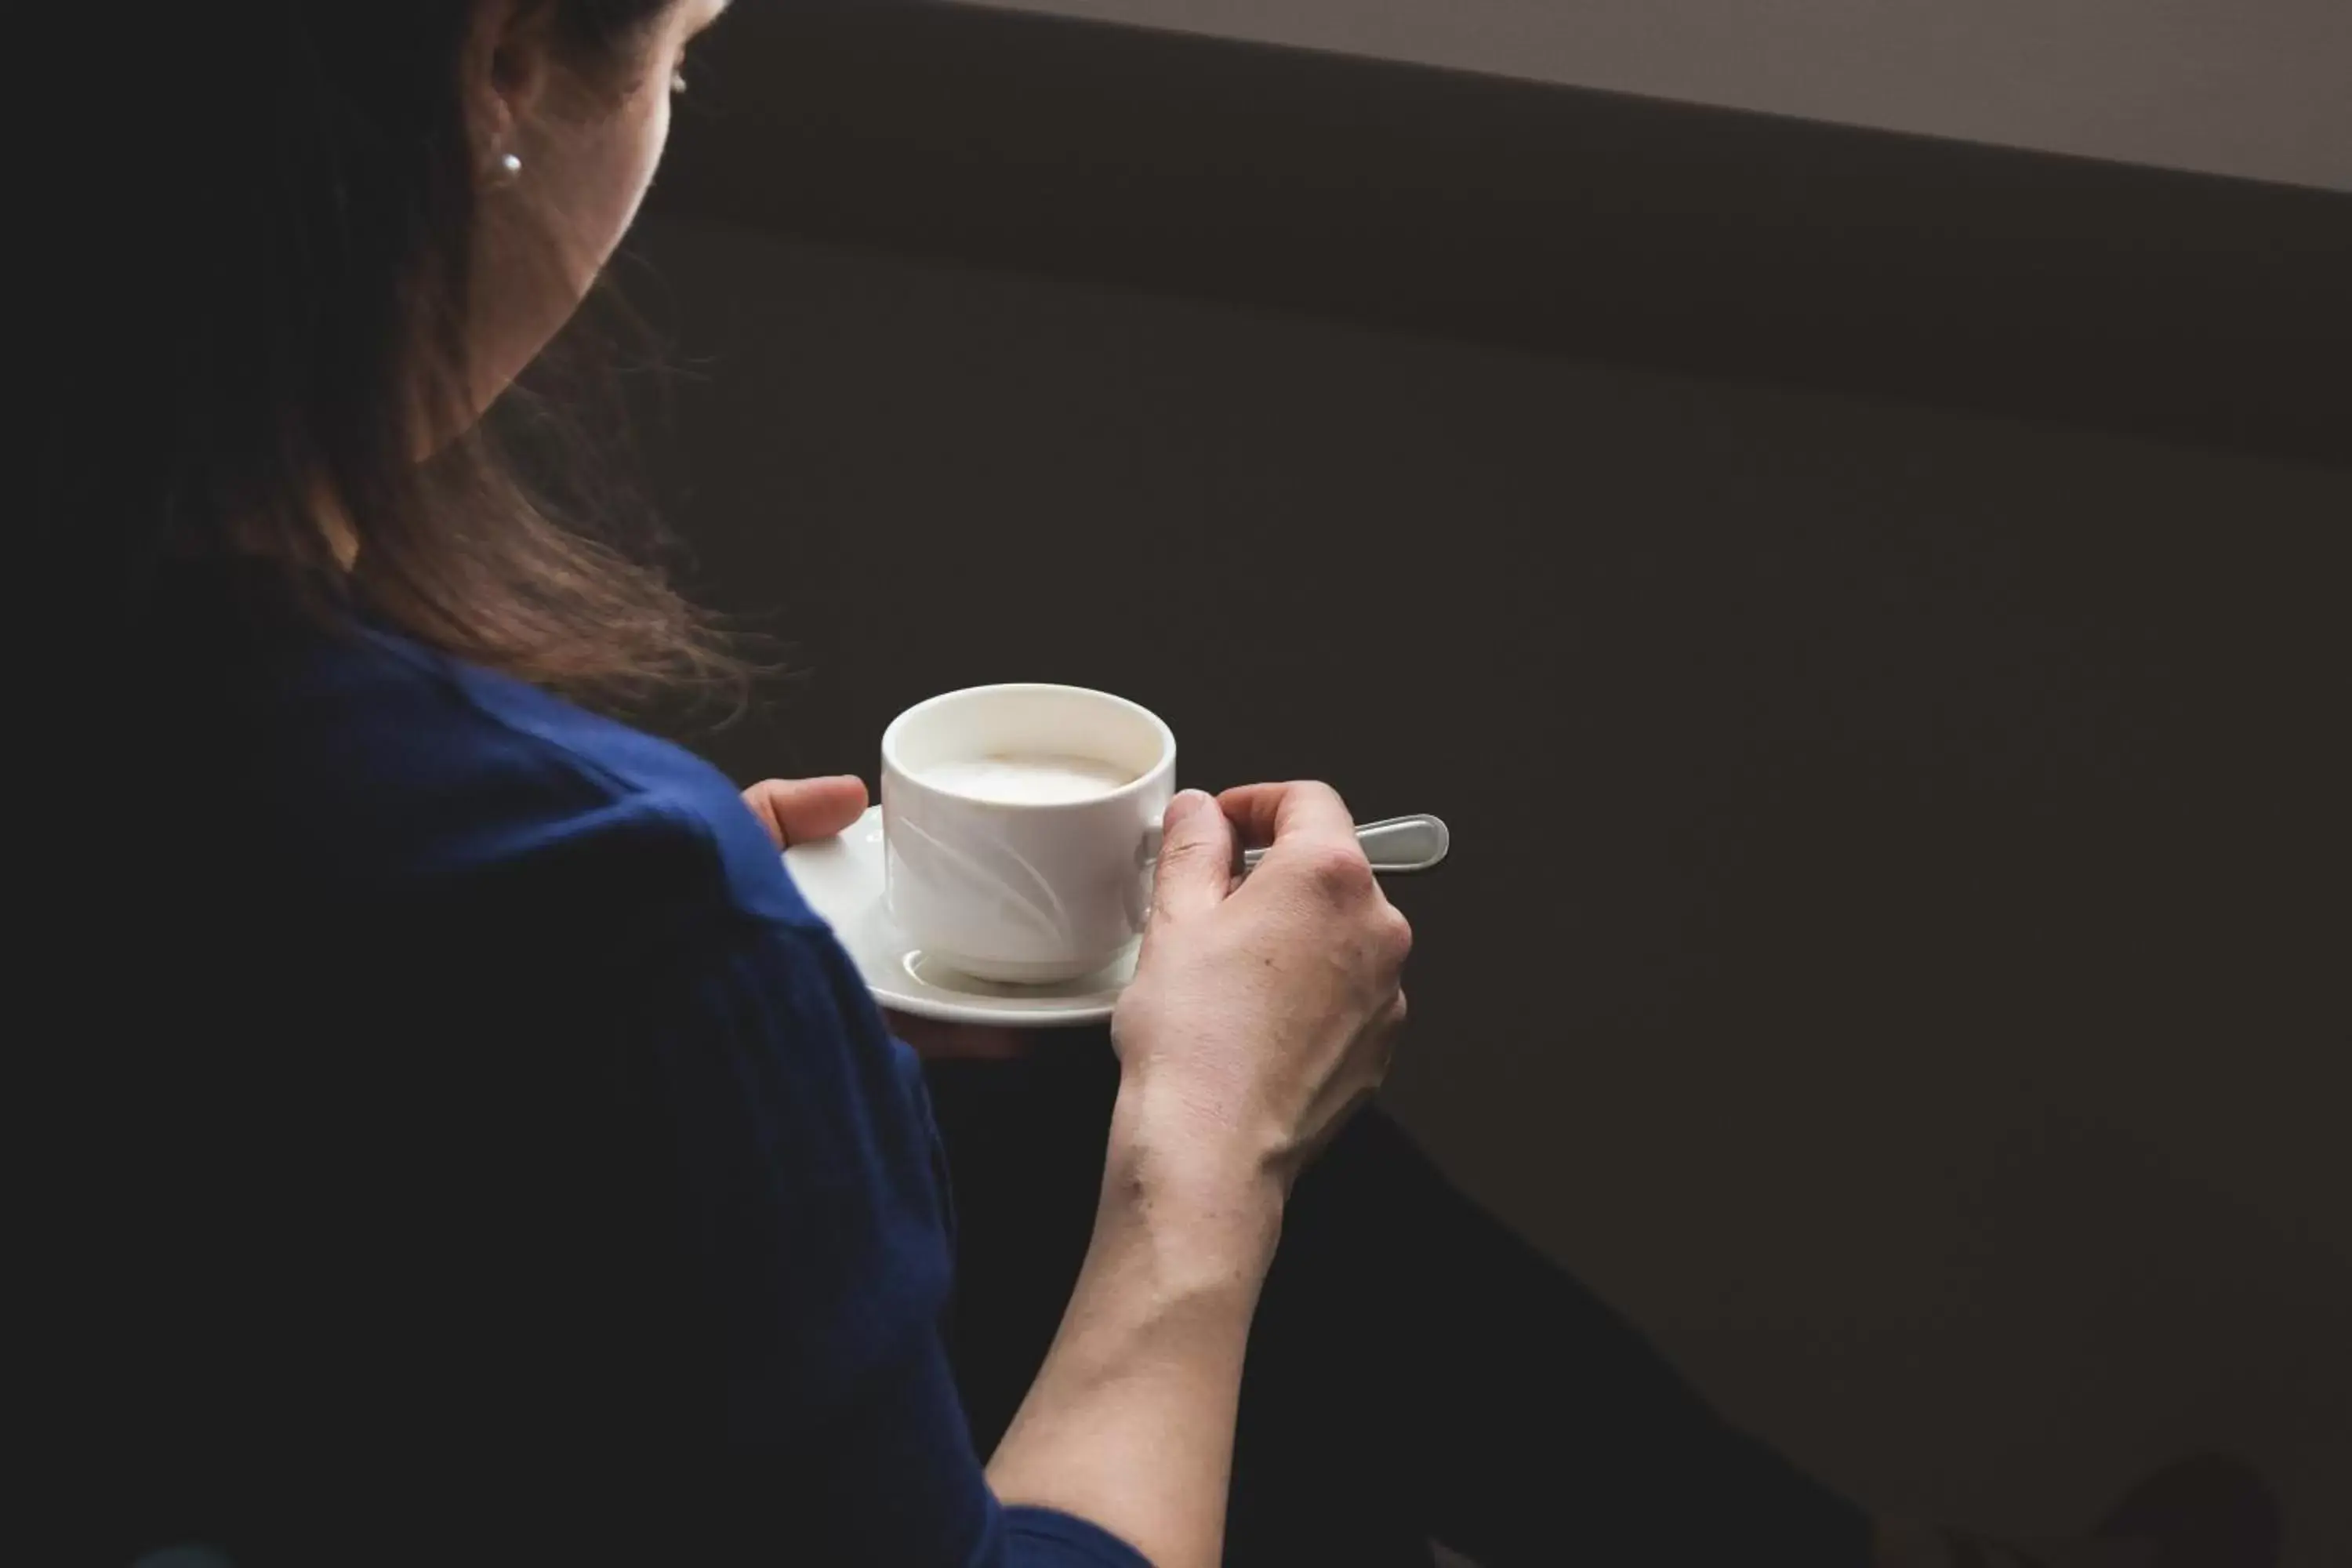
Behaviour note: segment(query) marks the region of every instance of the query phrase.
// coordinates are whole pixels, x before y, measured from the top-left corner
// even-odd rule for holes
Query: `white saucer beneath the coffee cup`
[[[800,896],[826,917],[849,950],[866,990],[887,1009],[941,1023],[995,1023],[1023,1030],[1105,1023],[1120,990],[1136,978],[1134,950],[1115,964],[1061,985],[997,985],[957,973],[906,940],[882,907],[882,806],[837,839],[793,844],[783,865]]]

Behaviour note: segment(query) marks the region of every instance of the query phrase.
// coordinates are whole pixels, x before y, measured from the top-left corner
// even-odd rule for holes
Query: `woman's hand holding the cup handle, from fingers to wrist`
[[[1247,879],[1240,846],[1265,846]],[[1411,943],[1329,785],[1178,795],[1112,1018],[1115,1152],[1287,1190],[1385,1077]]]

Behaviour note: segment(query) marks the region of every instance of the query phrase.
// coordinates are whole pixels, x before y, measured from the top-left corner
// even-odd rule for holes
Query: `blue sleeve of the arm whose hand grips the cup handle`
[[[644,1093],[675,1152],[729,1535],[844,1568],[1143,1563],[988,1490],[941,1333],[950,1248],[922,1079],[837,943],[734,917],[694,947],[647,1020]]]

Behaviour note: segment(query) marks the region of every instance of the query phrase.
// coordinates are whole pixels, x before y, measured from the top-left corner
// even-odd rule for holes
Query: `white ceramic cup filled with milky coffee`
[[[1082,686],[974,686],[882,731],[884,898],[927,957],[1051,985],[1143,936],[1176,736]]]

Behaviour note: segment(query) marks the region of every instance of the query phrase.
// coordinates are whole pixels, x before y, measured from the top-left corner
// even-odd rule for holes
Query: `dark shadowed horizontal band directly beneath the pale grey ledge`
[[[2352,195],[922,0],[736,12],[680,216],[2352,465]]]

